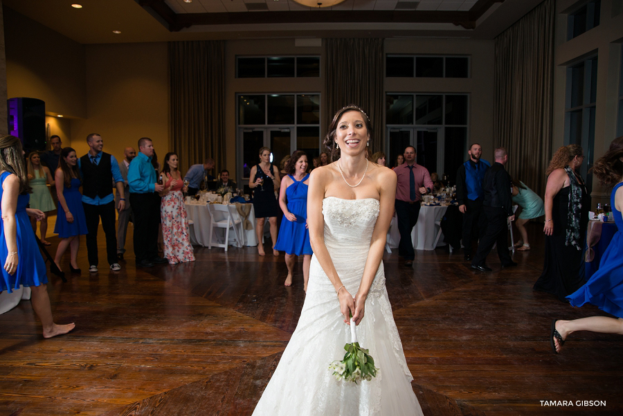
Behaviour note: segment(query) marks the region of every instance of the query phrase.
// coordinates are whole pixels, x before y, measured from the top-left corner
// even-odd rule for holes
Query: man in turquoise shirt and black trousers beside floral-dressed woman
[[[160,196],[163,185],[156,182],[152,165],[154,143],[151,138],[138,140],[138,154],[127,170],[130,205],[134,210],[134,255],[136,266],[152,267],[154,263],[168,263],[158,255],[158,227],[160,226]]]

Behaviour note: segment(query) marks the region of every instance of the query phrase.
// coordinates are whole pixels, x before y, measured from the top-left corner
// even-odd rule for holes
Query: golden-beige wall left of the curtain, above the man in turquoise
[[[123,159],[141,137],[154,141],[159,161],[169,151],[167,45],[87,45],[87,118],[71,120],[73,147],[88,151],[90,133]]]

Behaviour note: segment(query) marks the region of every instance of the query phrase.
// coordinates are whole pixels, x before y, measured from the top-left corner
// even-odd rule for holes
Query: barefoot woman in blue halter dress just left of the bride
[[[285,171],[288,176],[281,181],[279,192],[279,206],[283,211],[284,221],[281,221],[275,250],[286,252],[286,286],[292,284],[296,256],[303,256],[303,290],[307,291],[309,264],[313,254],[307,230],[307,154],[301,150],[294,152],[285,165]]]

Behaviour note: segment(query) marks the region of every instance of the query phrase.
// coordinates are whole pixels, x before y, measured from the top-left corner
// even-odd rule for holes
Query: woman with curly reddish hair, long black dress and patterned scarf
[[[584,284],[584,241],[590,199],[577,169],[584,161],[578,145],[560,147],[548,167],[545,188],[545,264],[534,289],[562,302]]]

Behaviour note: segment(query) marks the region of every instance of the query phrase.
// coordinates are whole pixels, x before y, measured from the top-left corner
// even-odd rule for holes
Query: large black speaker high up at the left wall
[[[46,103],[37,98],[9,98],[8,132],[21,138],[26,153],[46,150]]]

